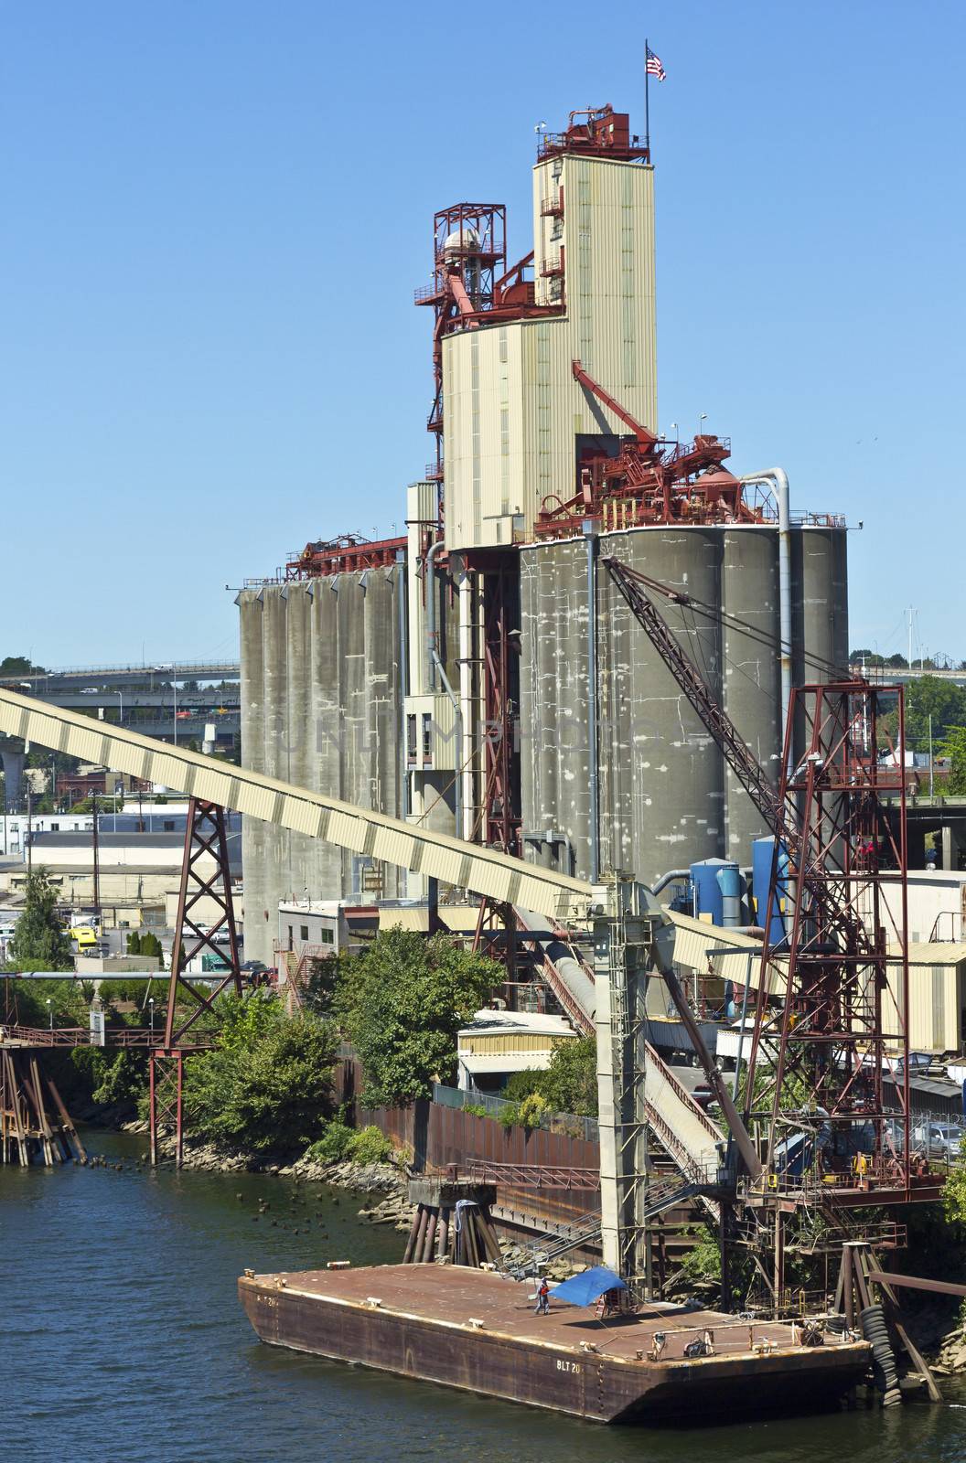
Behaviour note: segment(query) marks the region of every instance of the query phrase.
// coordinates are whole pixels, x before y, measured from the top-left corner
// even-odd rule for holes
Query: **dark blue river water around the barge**
[[[92,1148],[130,1163],[143,1140],[97,1134]],[[306,1211],[296,1197],[309,1192]],[[271,1210],[253,1223],[259,1197]],[[0,1457],[18,1463],[966,1459],[966,1406],[673,1432],[604,1429],[259,1344],[236,1301],[244,1265],[297,1270],[337,1257],[356,1264],[401,1257],[402,1236],[359,1223],[359,1207],[353,1195],[318,1185],[294,1188],[284,1179],[0,1169]],[[948,1400],[966,1404],[966,1387],[950,1391]]]

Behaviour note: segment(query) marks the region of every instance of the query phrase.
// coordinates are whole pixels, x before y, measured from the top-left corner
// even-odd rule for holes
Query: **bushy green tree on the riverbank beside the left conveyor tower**
[[[217,1002],[220,1045],[184,1064],[192,1131],[220,1146],[302,1153],[332,1113],[334,1026],[262,993]]]

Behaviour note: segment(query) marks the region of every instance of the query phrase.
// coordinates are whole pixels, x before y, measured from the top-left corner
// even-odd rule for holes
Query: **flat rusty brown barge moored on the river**
[[[561,1304],[534,1315],[531,1286],[458,1265],[252,1274],[239,1295],[258,1336],[400,1377],[596,1422],[785,1412],[831,1404],[865,1374],[865,1342],[713,1311],[647,1305],[599,1321]],[[653,1359],[654,1334],[664,1346]],[[704,1334],[711,1355],[686,1358]]]

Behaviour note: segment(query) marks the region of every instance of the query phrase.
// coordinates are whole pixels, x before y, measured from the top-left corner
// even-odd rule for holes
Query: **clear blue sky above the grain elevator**
[[[493,15],[489,22],[487,16]],[[657,165],[660,424],[850,535],[852,642],[966,655],[962,4],[0,9],[0,655],[233,652],[222,585],[391,531],[433,209],[612,101]]]

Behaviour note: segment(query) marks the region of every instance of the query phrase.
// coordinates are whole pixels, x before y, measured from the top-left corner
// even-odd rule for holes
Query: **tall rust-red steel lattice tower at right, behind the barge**
[[[880,761],[886,717],[897,751]],[[798,765],[795,726],[806,746]],[[789,1144],[798,1144],[795,1172],[825,1200],[915,1197],[905,745],[900,686],[859,680],[792,692],[768,895],[768,909],[787,901],[786,933],[770,935],[763,949],[746,1088],[748,1110],[765,1113],[773,1189],[808,1186],[790,1178]],[[896,834],[887,797],[899,811]],[[887,884],[896,887],[891,907]]]

